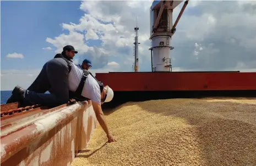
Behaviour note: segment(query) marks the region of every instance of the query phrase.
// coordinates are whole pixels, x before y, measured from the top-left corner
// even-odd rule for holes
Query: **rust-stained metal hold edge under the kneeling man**
[[[9,126],[11,134],[2,137],[1,165],[67,165],[72,163],[75,155],[88,144],[88,136],[96,128],[97,119],[91,104],[78,102],[72,106],[53,108],[30,117],[19,119],[25,123],[34,117],[24,128]],[[15,115],[13,118],[22,117]],[[9,120],[10,120],[9,119]],[[91,120],[89,120],[91,119]],[[92,123],[89,128],[84,124]],[[7,125],[7,124],[6,124]],[[7,131],[8,128],[3,130]],[[9,132],[8,132],[9,133]],[[81,141],[84,143],[81,143]]]

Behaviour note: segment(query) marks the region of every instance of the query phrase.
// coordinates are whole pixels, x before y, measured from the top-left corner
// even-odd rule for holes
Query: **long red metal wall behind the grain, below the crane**
[[[113,91],[256,90],[256,73],[96,73]]]

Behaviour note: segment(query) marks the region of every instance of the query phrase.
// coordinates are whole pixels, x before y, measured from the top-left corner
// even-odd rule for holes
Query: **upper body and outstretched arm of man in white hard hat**
[[[84,97],[91,100],[96,118],[102,129],[106,132],[108,142],[115,142],[116,140],[108,129],[104,113],[101,109],[101,104],[112,101],[114,97],[112,88],[104,86],[102,82],[98,81],[88,70],[80,69],[72,62],[70,62],[70,65],[71,70],[68,80],[69,91],[74,93],[73,98],[78,97],[82,99]],[[69,98],[71,98],[71,96],[69,96]]]

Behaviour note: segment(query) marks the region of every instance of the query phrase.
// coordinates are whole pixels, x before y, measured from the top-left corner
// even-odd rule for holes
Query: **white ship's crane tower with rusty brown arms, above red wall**
[[[188,1],[185,1],[175,24],[172,23],[172,12],[182,1],[154,1],[150,8],[150,40],[152,71],[172,71],[170,46],[172,35],[181,18]]]

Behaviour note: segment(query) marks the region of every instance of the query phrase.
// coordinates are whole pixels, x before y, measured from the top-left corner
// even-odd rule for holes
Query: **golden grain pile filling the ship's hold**
[[[106,113],[107,114],[107,113]],[[256,165],[256,99],[129,102],[106,116],[71,165]]]

